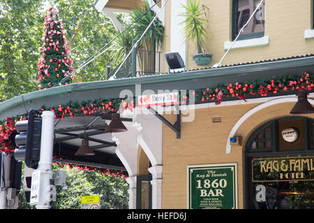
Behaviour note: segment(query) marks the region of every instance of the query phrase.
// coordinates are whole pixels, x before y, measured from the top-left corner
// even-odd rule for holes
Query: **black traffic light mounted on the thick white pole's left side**
[[[23,160],[27,167],[37,169],[40,157],[41,117],[39,112],[31,109],[29,120],[17,121],[14,151],[15,160]]]

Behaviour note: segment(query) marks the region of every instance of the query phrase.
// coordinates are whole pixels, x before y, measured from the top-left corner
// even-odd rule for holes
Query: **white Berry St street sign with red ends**
[[[179,104],[179,93],[160,93],[154,95],[141,95],[138,97],[138,107],[151,107],[158,105]]]

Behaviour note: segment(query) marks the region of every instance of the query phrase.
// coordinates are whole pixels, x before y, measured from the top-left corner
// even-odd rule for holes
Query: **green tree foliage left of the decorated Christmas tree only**
[[[37,90],[41,1],[0,1],[0,101]]]

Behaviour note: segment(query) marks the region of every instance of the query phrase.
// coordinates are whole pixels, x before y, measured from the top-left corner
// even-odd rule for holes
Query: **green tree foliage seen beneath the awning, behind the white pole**
[[[80,171],[53,165],[53,169],[66,170],[66,186],[56,186],[57,201],[50,202],[52,209],[80,209],[81,196],[100,195],[100,208],[125,209],[128,206],[128,183],[125,178],[102,174],[100,171]],[[19,209],[35,208],[26,202],[24,190],[19,194]]]

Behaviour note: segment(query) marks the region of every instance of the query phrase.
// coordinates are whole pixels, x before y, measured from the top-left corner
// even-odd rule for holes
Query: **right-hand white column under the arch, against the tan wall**
[[[153,166],[149,168],[149,173],[153,176],[151,180],[151,189],[152,189],[152,205],[151,208],[153,209],[161,209],[161,195],[162,195],[162,173],[163,173],[163,166]]]

